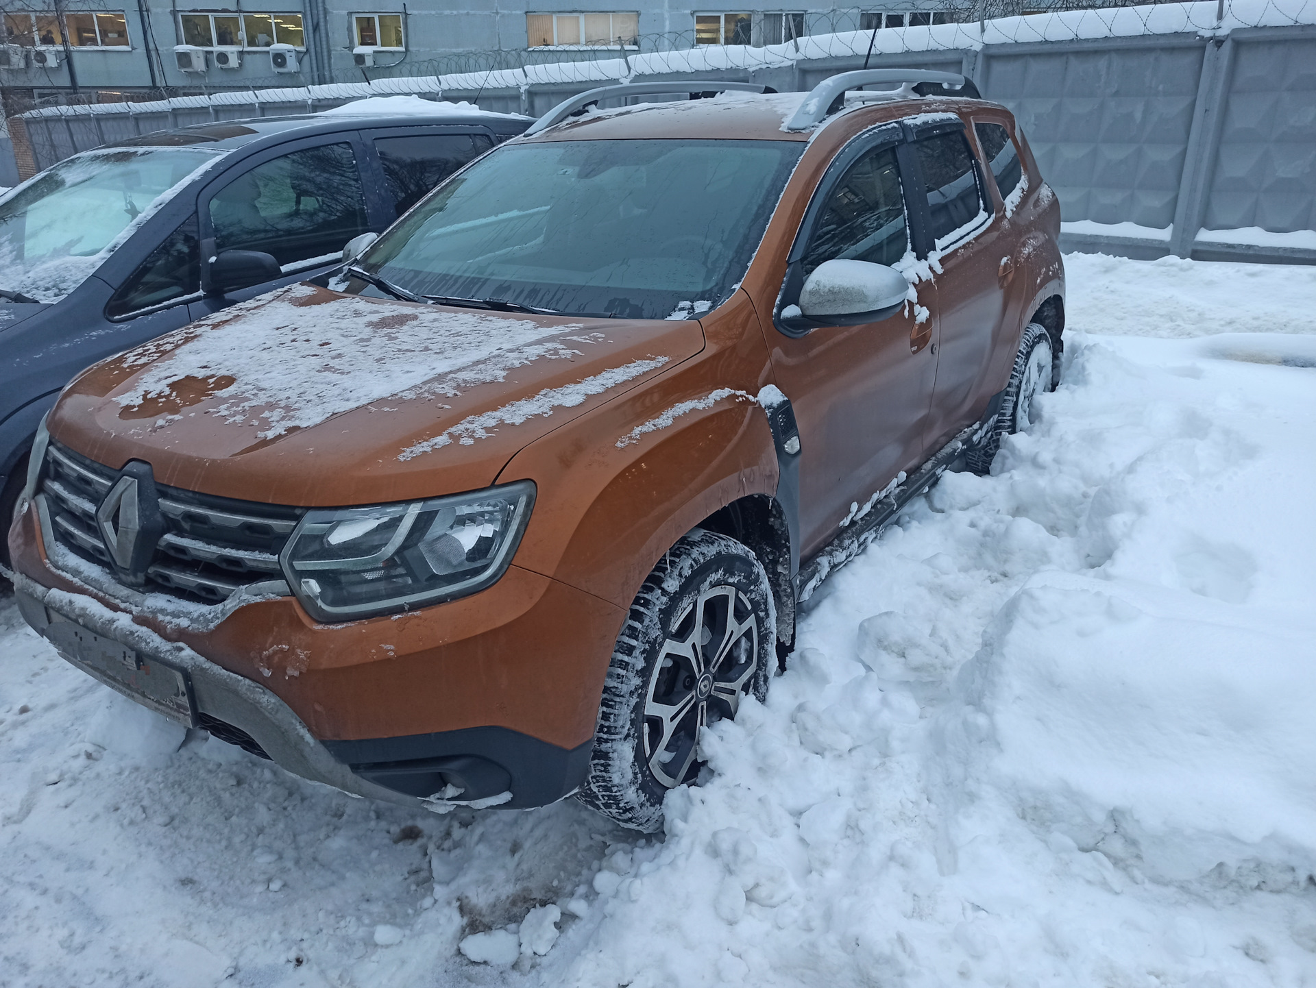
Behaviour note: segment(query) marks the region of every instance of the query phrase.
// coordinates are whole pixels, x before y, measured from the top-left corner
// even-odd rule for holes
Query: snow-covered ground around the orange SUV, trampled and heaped
[[[1040,421],[825,584],[665,838],[303,783],[0,600],[0,984],[1316,985],[1316,268],[1067,270]]]

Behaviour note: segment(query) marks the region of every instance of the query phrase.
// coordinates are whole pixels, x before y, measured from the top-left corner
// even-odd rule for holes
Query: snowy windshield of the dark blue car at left
[[[37,175],[0,201],[0,299],[59,301],[217,157],[174,147],[89,151]]]

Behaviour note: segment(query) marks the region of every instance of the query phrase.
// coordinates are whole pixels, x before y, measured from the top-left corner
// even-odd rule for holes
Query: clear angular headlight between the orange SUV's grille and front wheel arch
[[[429,501],[313,508],[280,562],[312,617],[350,621],[484,589],[512,562],[534,504],[520,480]]]

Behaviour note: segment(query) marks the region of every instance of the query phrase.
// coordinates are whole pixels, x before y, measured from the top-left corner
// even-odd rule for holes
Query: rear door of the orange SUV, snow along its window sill
[[[946,114],[912,130],[923,180],[916,208],[937,282],[937,384],[925,433],[932,454],[991,399],[987,371],[1005,314],[1000,266],[1011,251],[963,121]]]

